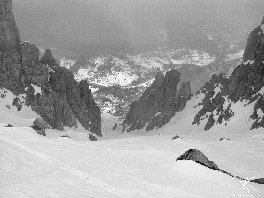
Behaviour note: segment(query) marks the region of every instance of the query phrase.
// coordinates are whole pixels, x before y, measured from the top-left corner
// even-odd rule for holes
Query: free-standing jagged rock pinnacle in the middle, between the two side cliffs
[[[146,131],[161,127],[169,122],[175,111],[184,109],[186,101],[191,97],[190,83],[183,83],[176,97],[177,85],[180,81],[180,72],[171,69],[165,77],[161,72],[142,96],[130,105],[129,113],[123,122],[123,131],[142,129],[147,122]]]

